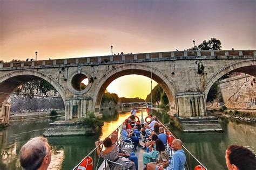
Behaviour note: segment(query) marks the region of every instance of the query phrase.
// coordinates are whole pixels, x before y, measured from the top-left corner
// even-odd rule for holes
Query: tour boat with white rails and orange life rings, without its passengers
[[[149,121],[148,117],[145,120],[145,122],[146,121]],[[164,129],[165,129],[165,133],[167,135],[167,147],[166,148],[169,148],[168,152],[169,152],[170,159],[171,159],[171,157],[172,157],[174,152],[173,152],[173,150],[172,150],[172,148],[170,146],[171,146],[172,140],[176,139],[176,137],[173,136],[173,134],[169,131],[169,129],[166,128],[166,126],[164,124],[162,124],[159,121],[158,121],[158,123],[161,124],[164,127]],[[123,125],[123,123],[120,124],[118,126],[118,128],[112,132],[112,133],[116,133],[117,134],[118,146],[121,145],[121,143],[122,143],[122,141],[120,140],[120,133],[122,131],[122,125]],[[109,137],[110,137],[111,134],[109,134]],[[126,148],[130,148],[131,152],[134,152],[133,147],[131,145],[127,145],[126,144],[125,147]],[[184,169],[186,169],[186,170],[192,170],[192,169],[206,170],[207,169],[203,164],[201,164],[201,162],[196,157],[194,157],[194,155],[190,151],[187,150],[187,148],[184,145],[183,145],[183,150],[184,150],[184,152],[186,154],[186,164],[185,164]],[[126,151],[128,151],[128,150],[126,150]],[[143,168],[145,167],[145,165],[143,165],[143,159],[142,159],[144,152],[145,152],[145,150],[142,150],[142,148],[137,148],[137,151],[135,152],[135,154],[138,157],[138,169],[139,170],[140,169],[143,170]],[[103,157],[98,157],[98,155],[97,155],[97,147],[95,147],[88,155],[86,155],[79,162],[79,164],[77,164],[73,168],[73,170],[87,170],[87,169],[103,170],[103,169],[110,169],[109,168],[109,163],[113,164],[113,162],[111,162],[110,160],[106,160]]]

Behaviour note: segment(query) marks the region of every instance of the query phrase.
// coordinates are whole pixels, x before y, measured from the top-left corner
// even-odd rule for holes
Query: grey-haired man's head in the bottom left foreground
[[[51,148],[44,137],[31,138],[19,152],[24,169],[47,169],[51,162]]]

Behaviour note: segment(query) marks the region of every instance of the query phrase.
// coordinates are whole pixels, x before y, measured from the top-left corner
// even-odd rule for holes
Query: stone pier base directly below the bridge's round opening
[[[81,118],[92,111],[92,98],[68,98],[65,100],[65,120]]]

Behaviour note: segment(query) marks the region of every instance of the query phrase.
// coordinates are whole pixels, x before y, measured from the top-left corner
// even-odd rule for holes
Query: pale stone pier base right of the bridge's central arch
[[[207,116],[204,93],[179,93],[176,95],[176,104],[179,117]]]

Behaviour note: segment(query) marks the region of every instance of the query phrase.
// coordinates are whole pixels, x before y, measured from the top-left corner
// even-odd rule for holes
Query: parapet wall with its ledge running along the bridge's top
[[[19,67],[53,67],[53,66],[77,66],[77,65],[95,65],[95,64],[110,64],[118,62],[145,62],[166,59],[191,59],[194,57],[204,58],[207,56],[216,59],[225,59],[242,57],[256,57],[256,51],[253,50],[220,50],[220,51],[174,51],[174,52],[155,52],[155,53],[138,53],[125,55],[108,55],[108,56],[90,56],[85,58],[70,58],[56,60],[38,60],[38,61],[23,61],[23,62],[3,62],[0,63],[2,68],[19,68]]]

